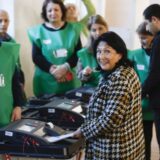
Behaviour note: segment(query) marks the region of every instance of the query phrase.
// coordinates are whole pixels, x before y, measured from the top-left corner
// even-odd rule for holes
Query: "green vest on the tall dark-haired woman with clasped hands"
[[[67,62],[72,56],[79,40],[73,25],[67,23],[64,29],[58,31],[47,30],[43,25],[33,27],[28,30],[31,42],[34,42],[42,50],[43,56],[47,61],[55,65]],[[58,83],[49,73],[42,71],[35,66],[33,79],[33,91],[36,96],[44,94],[63,94],[68,90],[74,89],[77,84],[75,71],[71,69],[73,79],[64,83]]]

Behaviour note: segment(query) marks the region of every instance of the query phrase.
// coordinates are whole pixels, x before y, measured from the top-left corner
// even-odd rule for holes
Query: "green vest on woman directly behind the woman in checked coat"
[[[80,51],[78,51],[77,54],[78,57],[80,58],[83,68],[89,66],[93,70],[95,70],[95,68],[98,66],[96,58],[92,53],[89,52],[87,48],[81,49]],[[98,85],[99,79],[100,79],[100,72],[93,71],[90,79],[84,83],[84,86],[96,87]]]

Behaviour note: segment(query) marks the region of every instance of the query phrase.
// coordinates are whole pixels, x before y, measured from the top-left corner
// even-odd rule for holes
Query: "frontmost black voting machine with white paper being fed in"
[[[37,158],[68,159],[83,147],[84,139],[53,123],[22,119],[0,129],[0,154]]]

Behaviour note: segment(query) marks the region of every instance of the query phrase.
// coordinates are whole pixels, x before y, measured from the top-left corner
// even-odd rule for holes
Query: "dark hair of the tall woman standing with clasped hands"
[[[62,0],[45,0],[43,2],[42,12],[41,12],[41,16],[44,19],[44,21],[48,22],[48,18],[46,15],[46,8],[47,8],[48,3],[50,3],[50,2],[58,4],[60,6],[61,11],[62,11],[62,20],[65,20],[66,19],[66,7],[63,4]]]

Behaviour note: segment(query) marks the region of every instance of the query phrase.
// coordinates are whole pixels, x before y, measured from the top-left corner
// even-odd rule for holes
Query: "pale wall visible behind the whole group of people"
[[[79,9],[84,9],[81,0],[66,0],[75,2]],[[139,47],[135,30],[143,20],[143,10],[160,0],[92,0],[96,11],[105,17],[110,30],[116,31],[125,40],[129,49]],[[21,43],[22,69],[26,77],[26,92],[32,93],[32,77],[34,65],[31,59],[31,44],[27,36],[27,28],[41,23],[40,12],[43,0],[0,0],[0,8],[6,9],[11,17],[9,32]],[[84,10],[82,11],[85,12]]]

